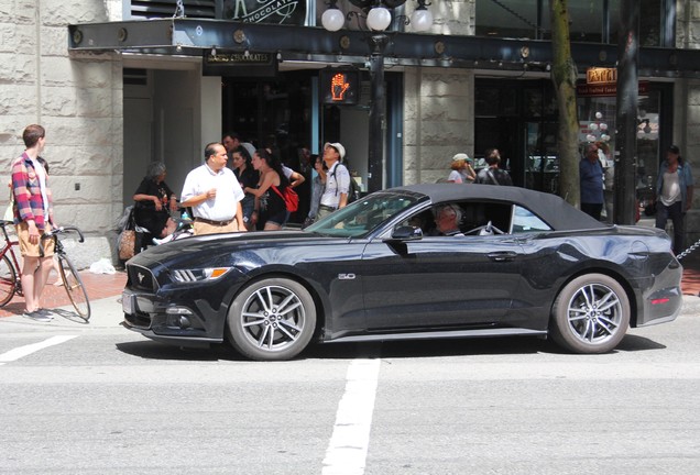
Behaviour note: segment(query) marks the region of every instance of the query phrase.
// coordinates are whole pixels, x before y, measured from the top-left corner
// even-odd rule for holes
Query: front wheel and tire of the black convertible
[[[236,296],[227,323],[229,341],[242,355],[258,361],[289,360],[311,340],[316,305],[299,283],[266,278]]]

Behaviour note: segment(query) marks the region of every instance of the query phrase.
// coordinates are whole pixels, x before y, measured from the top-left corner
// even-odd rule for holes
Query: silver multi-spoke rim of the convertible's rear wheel
[[[609,341],[622,322],[622,302],[610,287],[589,284],[578,289],[567,307],[571,332],[588,344]]]

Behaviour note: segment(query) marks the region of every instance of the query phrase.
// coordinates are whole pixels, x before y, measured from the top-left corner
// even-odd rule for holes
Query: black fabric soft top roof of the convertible
[[[425,195],[433,203],[456,200],[510,201],[527,208],[557,231],[609,227],[573,208],[557,195],[514,186],[424,184],[392,188],[386,191]]]

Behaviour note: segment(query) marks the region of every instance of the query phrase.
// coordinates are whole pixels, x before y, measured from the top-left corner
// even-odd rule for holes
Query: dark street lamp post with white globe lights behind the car
[[[384,132],[386,95],[384,88],[384,54],[390,43],[390,36],[385,33],[391,24],[392,13],[384,7],[386,3],[392,10],[401,7],[406,0],[349,0],[356,7],[365,12],[367,26],[371,32],[368,35],[370,46],[370,117],[368,133],[368,191],[378,191],[384,187]],[[433,15],[426,8],[426,0],[417,0],[418,7],[411,15],[408,23],[415,31],[425,31],[433,25]],[[330,0],[328,10],[321,15],[321,23],[328,31],[338,31],[350,19],[338,10],[337,0]]]

